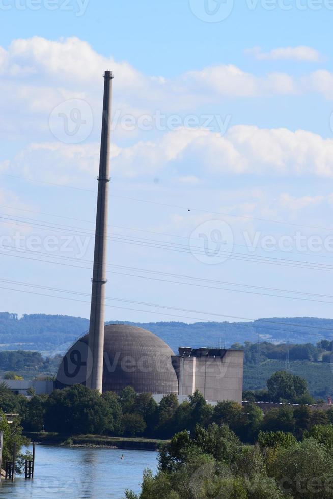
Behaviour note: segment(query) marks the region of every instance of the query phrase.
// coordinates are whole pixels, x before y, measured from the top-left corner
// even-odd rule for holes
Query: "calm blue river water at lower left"
[[[34,480],[1,480],[0,497],[122,499],[125,489],[140,491],[143,470],[155,472],[156,457],[151,451],[38,445]]]

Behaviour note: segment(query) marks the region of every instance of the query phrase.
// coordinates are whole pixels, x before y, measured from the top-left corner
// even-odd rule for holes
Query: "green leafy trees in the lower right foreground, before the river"
[[[142,492],[127,499],[308,499],[333,497],[333,425],[315,425],[297,441],[259,432],[244,445],[228,425],[197,425],[159,452],[156,476],[146,470]]]

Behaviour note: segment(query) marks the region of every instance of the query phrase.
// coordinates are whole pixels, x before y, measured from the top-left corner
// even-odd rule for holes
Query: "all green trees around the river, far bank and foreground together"
[[[23,429],[59,432],[64,445],[79,434],[165,440],[156,476],[146,470],[141,493],[127,490],[127,499],[332,498],[333,408],[302,404],[309,397],[306,381],[285,371],[267,381],[267,394],[272,401],[298,400],[299,405],[263,414],[255,403],[211,406],[198,391],[181,404],[174,394],[157,404],[131,387],[100,395],[82,385],[50,396],[31,394],[28,400],[0,384],[0,417],[20,413],[15,423],[20,447]],[[7,429],[9,454],[11,435]]]

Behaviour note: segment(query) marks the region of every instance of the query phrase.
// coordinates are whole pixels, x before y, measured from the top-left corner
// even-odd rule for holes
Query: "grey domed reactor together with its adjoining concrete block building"
[[[55,387],[86,384],[91,376],[89,355],[85,335],[64,356]],[[186,398],[198,389],[208,401],[241,403],[243,357],[242,351],[219,348],[180,348],[179,355],[174,355],[150,331],[110,324],[104,330],[102,391],[119,393],[132,386],[137,393],[175,393]]]

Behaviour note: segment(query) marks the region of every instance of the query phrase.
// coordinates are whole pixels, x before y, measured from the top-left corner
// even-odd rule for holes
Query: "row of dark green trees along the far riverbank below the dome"
[[[33,394],[32,394],[33,395]],[[73,435],[105,435],[169,439],[176,432],[193,431],[196,425],[227,424],[243,443],[255,443],[260,431],[290,432],[297,439],[316,424],[333,424],[333,408],[314,410],[305,405],[311,397],[307,383],[285,371],[267,381],[264,393],[248,394],[248,400],[266,397],[270,402],[293,402],[262,413],[255,403],[245,407],[235,402],[219,402],[212,406],[200,392],[181,404],[175,394],[157,404],[151,394],[136,394],[131,387],[119,395],[97,391],[83,385],[55,390],[50,396],[33,395],[30,400],[14,395],[0,385],[0,408],[20,414],[27,432],[54,432]]]

